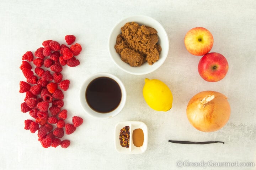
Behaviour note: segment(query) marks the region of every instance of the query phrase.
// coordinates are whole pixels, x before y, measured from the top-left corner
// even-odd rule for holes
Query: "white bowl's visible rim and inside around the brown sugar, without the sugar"
[[[160,53],[159,60],[153,65],[144,63],[142,66],[132,67],[123,62],[119,54],[116,52],[114,46],[116,44],[117,35],[121,33],[121,27],[123,27],[127,22],[136,22],[139,25],[149,26],[157,30],[159,38],[158,43],[160,44],[162,51]],[[119,68],[130,74],[143,75],[153,72],[154,70],[158,69],[162,63],[164,63],[169,51],[169,39],[164,27],[162,27],[158,21],[148,16],[136,15],[124,18],[114,26],[108,38],[108,51],[110,52],[112,60]]]

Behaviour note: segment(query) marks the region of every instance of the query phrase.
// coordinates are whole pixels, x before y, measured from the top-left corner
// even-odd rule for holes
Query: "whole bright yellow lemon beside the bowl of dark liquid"
[[[162,81],[145,79],[143,97],[146,103],[156,111],[169,111],[172,108],[172,93]]]

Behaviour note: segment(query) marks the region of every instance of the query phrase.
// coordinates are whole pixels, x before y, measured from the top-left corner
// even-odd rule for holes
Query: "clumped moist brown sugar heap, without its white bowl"
[[[148,26],[139,26],[135,22],[126,23],[121,28],[122,34],[116,39],[114,48],[121,60],[130,66],[141,66],[144,62],[152,65],[159,60],[161,46],[157,31]]]

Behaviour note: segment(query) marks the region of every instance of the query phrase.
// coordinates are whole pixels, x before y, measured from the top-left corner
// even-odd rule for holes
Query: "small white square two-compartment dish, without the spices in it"
[[[120,145],[120,140],[119,140],[119,135],[120,135],[120,130],[125,127],[129,126],[130,130],[130,141],[129,141],[129,148],[122,147]],[[143,145],[140,147],[136,147],[133,144],[133,130],[135,129],[142,129],[143,134],[144,134],[144,141]],[[145,123],[141,121],[122,121],[116,124],[115,126],[115,132],[114,132],[114,145],[116,148],[116,151],[119,153],[124,153],[124,154],[140,154],[146,151],[148,147],[148,127],[146,126]]]

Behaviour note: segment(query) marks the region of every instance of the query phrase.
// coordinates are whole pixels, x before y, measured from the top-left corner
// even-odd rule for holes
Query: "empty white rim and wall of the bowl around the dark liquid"
[[[108,113],[96,112],[86,102],[86,98],[85,98],[86,88],[92,80],[94,80],[98,77],[109,77],[109,78],[115,80],[121,89],[122,97],[121,97],[121,101],[120,101],[118,107]],[[119,78],[117,78],[116,76],[114,76],[113,74],[105,73],[105,72],[96,73],[96,74],[93,74],[90,77],[88,77],[82,84],[82,86],[80,88],[80,92],[79,92],[80,103],[81,103],[82,108],[85,110],[85,112],[95,118],[100,118],[100,119],[112,118],[112,117],[116,116],[118,113],[120,113],[126,103],[126,95],[127,95],[126,89],[125,89],[122,81]]]

